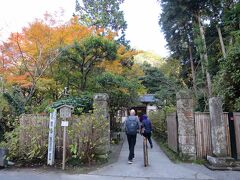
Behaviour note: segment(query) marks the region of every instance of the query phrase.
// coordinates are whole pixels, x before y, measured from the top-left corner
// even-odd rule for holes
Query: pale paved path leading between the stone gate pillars
[[[135,159],[133,164],[127,163],[128,144],[125,140],[120,157],[114,164],[91,172],[91,175],[146,178],[146,179],[213,179],[203,173],[199,173],[180,164],[172,163],[162,150],[153,141],[153,149],[149,148],[149,163],[143,165],[142,136],[138,135],[135,147]]]

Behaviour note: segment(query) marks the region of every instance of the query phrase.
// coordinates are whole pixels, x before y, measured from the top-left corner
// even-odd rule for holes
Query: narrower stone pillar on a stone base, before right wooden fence
[[[222,101],[219,97],[209,99],[209,112],[213,154],[218,157],[227,156],[226,122],[224,122]]]

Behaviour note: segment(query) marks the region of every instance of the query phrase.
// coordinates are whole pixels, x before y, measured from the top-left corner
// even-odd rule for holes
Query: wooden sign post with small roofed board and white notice
[[[60,107],[60,117],[63,119],[61,122],[61,126],[63,127],[63,161],[62,161],[62,169],[65,169],[66,162],[66,136],[67,136],[67,126],[68,121],[67,118],[70,118],[72,115],[72,106],[63,105]]]

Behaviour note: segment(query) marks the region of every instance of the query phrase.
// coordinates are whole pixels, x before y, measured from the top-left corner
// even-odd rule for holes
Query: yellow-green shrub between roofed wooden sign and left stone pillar
[[[79,121],[68,129],[72,158],[89,165],[106,160],[109,133],[109,121],[102,115],[97,112],[82,114]]]

